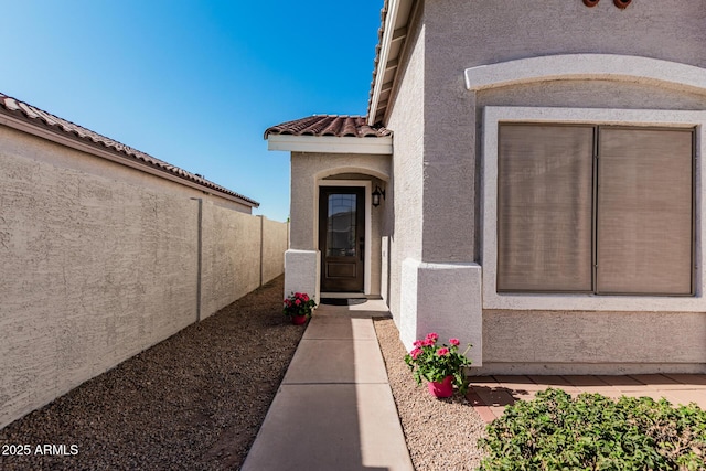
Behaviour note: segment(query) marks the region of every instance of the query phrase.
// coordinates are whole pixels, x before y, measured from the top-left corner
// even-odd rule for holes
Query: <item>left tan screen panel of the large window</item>
[[[593,127],[500,127],[498,289],[590,291]]]

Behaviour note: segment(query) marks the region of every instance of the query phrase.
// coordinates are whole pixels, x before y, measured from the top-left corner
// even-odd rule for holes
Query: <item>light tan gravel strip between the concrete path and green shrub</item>
[[[464,397],[437,399],[417,386],[404,362],[407,353],[392,319],[375,319],[389,386],[411,461],[418,471],[475,469],[482,458],[477,441],[485,425]]]

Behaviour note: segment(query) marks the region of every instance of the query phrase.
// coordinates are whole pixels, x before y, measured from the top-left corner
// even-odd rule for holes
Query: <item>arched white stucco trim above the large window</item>
[[[630,82],[706,93],[706,68],[678,62],[616,54],[560,54],[467,68],[469,90],[547,81]]]

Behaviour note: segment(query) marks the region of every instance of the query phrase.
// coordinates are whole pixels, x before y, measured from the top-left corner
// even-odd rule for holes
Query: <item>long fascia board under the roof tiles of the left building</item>
[[[259,203],[253,203],[247,200],[239,199],[237,196],[233,196],[227,193],[222,193],[217,190],[200,185],[199,183],[181,179],[176,175],[172,175],[171,173],[164,172],[162,170],[156,169],[153,167],[147,165],[145,163],[140,163],[137,161],[129,160],[129,158],[115,154],[108,150],[99,149],[94,146],[90,146],[85,142],[77,141],[66,136],[58,135],[56,132],[52,132],[47,129],[43,129],[41,127],[34,126],[30,122],[26,122],[22,119],[18,119],[13,116],[0,114],[0,125],[4,125],[9,128],[17,129],[22,132],[26,132],[32,136],[40,137],[42,139],[46,139],[49,141],[58,143],[61,146],[69,147],[72,149],[79,150],[82,152],[89,153],[92,156],[109,160],[115,163],[119,163],[125,167],[129,167],[131,169],[139,170],[140,172],[149,173],[154,176],[159,176],[160,179],[169,180],[174,183],[179,183],[183,186],[189,186],[195,190],[201,191],[202,193],[213,194],[224,200],[233,201],[235,203],[244,204],[249,207],[259,207]]]

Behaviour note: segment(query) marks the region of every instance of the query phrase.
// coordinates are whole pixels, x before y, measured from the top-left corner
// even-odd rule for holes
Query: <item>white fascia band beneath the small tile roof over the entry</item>
[[[292,152],[319,153],[371,153],[391,156],[393,137],[335,137],[335,136],[292,136],[270,135],[267,137],[268,150],[288,150]]]

